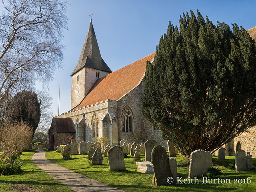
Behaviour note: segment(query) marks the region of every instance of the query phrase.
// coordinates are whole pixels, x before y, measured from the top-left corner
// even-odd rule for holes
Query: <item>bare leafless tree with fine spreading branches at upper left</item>
[[[66,4],[60,0],[2,0],[0,16],[0,103],[35,82],[53,80],[62,66]]]

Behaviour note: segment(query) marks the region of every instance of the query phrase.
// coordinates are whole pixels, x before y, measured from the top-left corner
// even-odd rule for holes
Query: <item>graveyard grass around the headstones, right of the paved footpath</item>
[[[62,160],[61,153],[46,152],[46,158],[48,160],[63,166],[69,170],[80,173],[84,176],[98,180],[109,186],[119,188],[125,192],[169,192],[170,190],[176,192],[218,192],[218,191],[243,191],[251,192],[256,189],[256,159],[252,159],[254,163],[254,170],[247,172],[235,172],[230,170],[228,165],[234,161],[234,156],[227,156],[226,160],[218,160],[217,156],[212,158],[212,166],[221,170],[222,175],[215,176],[215,179],[230,179],[230,184],[203,184],[203,180],[199,180],[199,184],[176,184],[170,186],[156,187],[152,185],[152,174],[143,174],[137,172],[136,162],[133,161],[133,157],[128,155],[124,158],[126,171],[110,171],[108,166],[108,158],[103,158],[102,165],[92,165],[90,160],[87,159],[87,155],[72,155],[70,160]],[[178,177],[182,177],[181,181],[188,179],[189,161],[184,157],[177,157],[178,162]],[[250,184],[247,183],[247,178],[250,177]],[[214,178],[213,178],[214,179]],[[243,183],[235,184],[235,179]],[[245,183],[244,183],[245,180]],[[214,181],[214,180],[213,180]]]

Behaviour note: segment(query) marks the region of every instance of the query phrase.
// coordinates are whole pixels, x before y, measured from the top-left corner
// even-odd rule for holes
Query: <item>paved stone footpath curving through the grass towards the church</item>
[[[123,192],[50,162],[45,157],[44,150],[37,150],[31,160],[36,166],[52,176],[52,178],[76,192]]]

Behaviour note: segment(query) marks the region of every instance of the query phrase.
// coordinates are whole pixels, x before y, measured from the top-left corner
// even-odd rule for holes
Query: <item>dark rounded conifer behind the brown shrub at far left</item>
[[[26,90],[18,92],[8,102],[6,116],[11,122],[26,122],[35,133],[41,116],[37,94]]]

